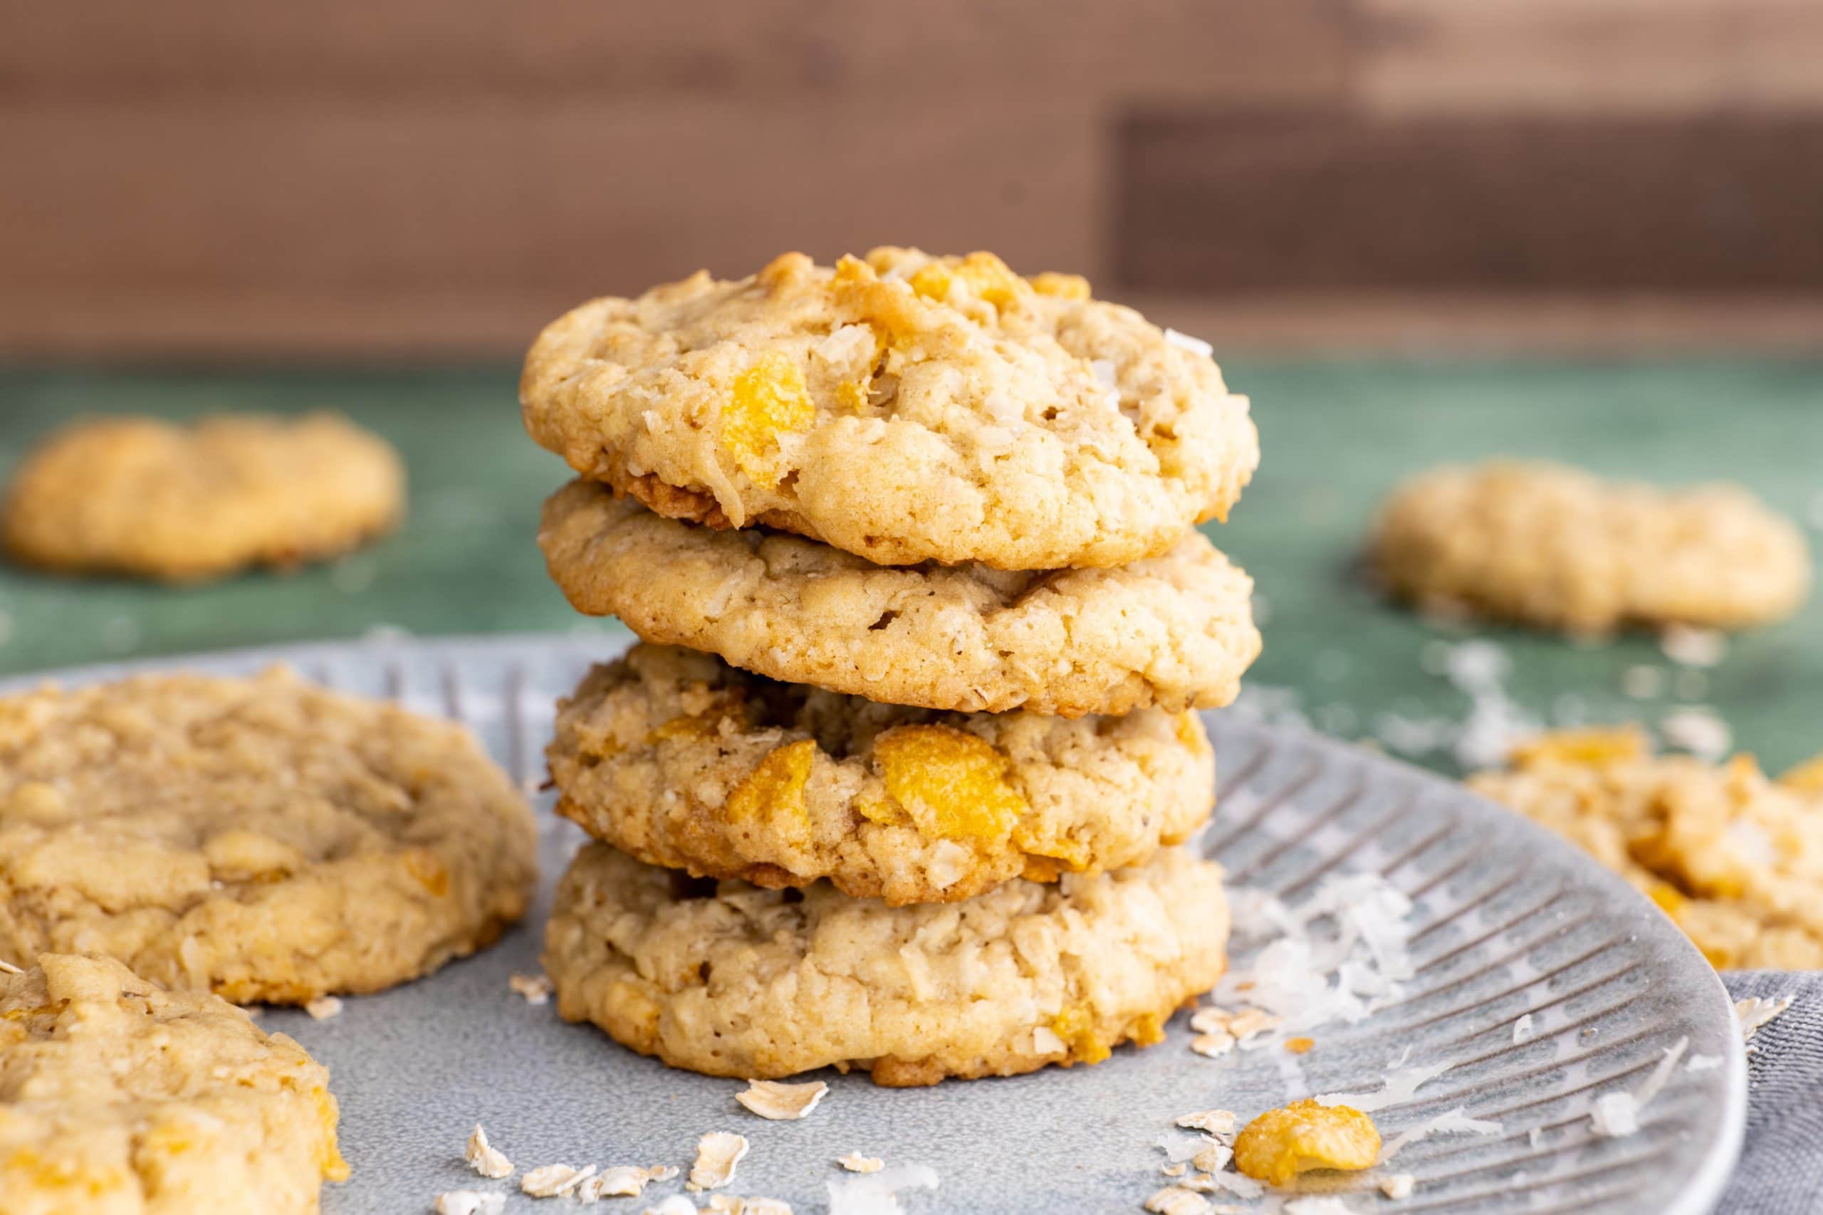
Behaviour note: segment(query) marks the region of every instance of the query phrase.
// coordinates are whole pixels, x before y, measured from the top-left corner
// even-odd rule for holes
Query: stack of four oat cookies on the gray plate
[[[1258,463],[1209,348],[1074,275],[882,248],[549,326],[540,545],[640,638],[560,705],[569,1020],[881,1084],[1150,1044],[1221,975],[1196,709],[1260,650],[1196,532]]]

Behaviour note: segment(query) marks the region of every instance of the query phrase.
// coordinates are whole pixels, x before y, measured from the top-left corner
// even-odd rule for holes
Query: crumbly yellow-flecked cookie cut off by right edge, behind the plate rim
[[[1637,730],[1546,734],[1477,792],[1582,845],[1717,969],[1823,969],[1823,792],[1752,756],[1655,756]]]

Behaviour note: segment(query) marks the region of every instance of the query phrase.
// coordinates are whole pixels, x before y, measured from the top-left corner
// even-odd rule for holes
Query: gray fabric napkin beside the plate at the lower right
[[[1746,1055],[1746,1142],[1717,1215],[1823,1211],[1823,973],[1728,971],[1728,995],[1796,996]]]

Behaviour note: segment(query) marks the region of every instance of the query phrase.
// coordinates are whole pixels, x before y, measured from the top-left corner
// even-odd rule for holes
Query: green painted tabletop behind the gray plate
[[[1254,399],[1265,461],[1218,543],[1267,599],[1262,687],[1291,689],[1338,732],[1387,712],[1460,716],[1427,672],[1440,630],[1378,603],[1353,574],[1362,528],[1404,474],[1447,459],[1568,459],[1655,481],[1734,479],[1803,517],[1823,492],[1823,362],[1231,362]],[[270,641],[602,628],[580,623],[543,574],[532,530],[560,463],[520,430],[510,370],[80,373],[0,372],[0,461],[77,414],[343,410],[385,434],[412,472],[410,519],[390,539],[288,576],[197,588],[0,572],[0,674],[102,658]],[[1816,532],[1810,532],[1816,539]],[[1577,647],[1489,630],[1513,698],[1542,720],[1655,721],[1714,705],[1770,767],[1823,750],[1823,599],[1737,638],[1715,670],[1635,701],[1635,665],[1670,669],[1650,638]],[[1435,658],[1435,648],[1433,648]],[[1435,667],[1435,663],[1431,663]],[[1447,769],[1444,754],[1429,761]]]

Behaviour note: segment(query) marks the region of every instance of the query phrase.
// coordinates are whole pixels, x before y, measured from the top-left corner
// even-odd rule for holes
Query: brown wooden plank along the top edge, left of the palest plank
[[[1333,0],[0,0],[0,97],[1311,98]]]

